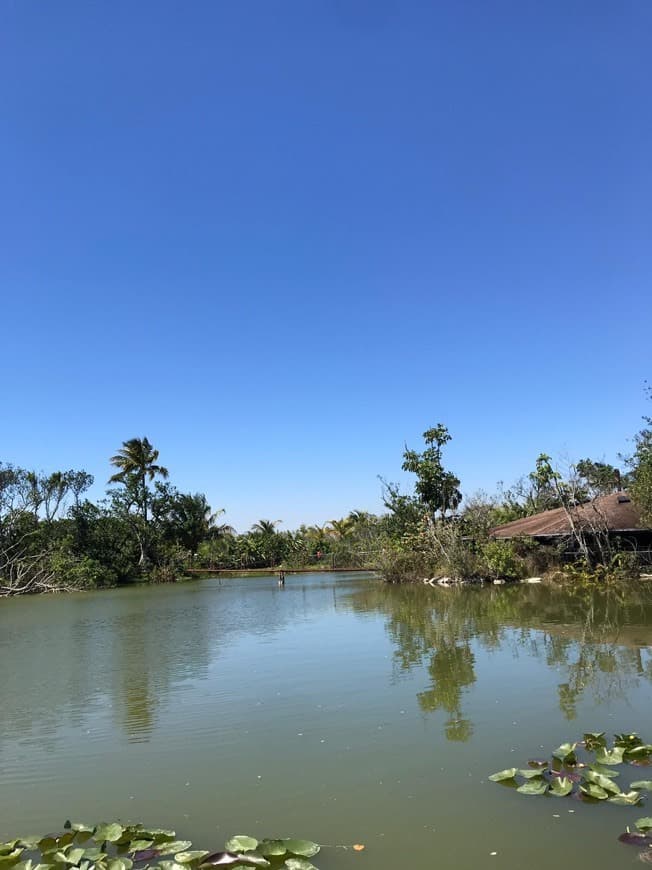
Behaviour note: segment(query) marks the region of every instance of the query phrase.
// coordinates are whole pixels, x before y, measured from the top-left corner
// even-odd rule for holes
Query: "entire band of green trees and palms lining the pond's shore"
[[[416,478],[413,492],[382,481],[383,514],[351,510],[293,531],[280,530],[281,520],[261,519],[238,534],[203,493],[169,482],[146,437],[123,442],[110,458],[113,474],[97,502],[86,497],[93,484],[86,471],[46,474],[0,463],[0,595],[171,581],[192,567],[369,567],[396,581],[442,570],[516,579],[554,565],[559,554],[531,542],[496,541],[489,532],[497,525],[625,486],[652,525],[652,421],[644,420],[625,470],[582,459],[562,474],[542,453],[513,486],[464,501],[460,480],[443,464],[451,436],[438,424],[424,432],[422,452],[403,453],[403,470]],[[618,555],[608,541],[597,555],[593,544],[571,543],[593,567]]]

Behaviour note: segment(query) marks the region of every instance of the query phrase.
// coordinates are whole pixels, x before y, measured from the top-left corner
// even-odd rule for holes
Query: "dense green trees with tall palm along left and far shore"
[[[176,489],[158,458],[147,438],[125,441],[99,503],[85,498],[84,471],[0,465],[0,595],[169,581],[193,567],[365,567],[386,537],[363,511],[296,531],[261,519],[237,534],[204,494]]]

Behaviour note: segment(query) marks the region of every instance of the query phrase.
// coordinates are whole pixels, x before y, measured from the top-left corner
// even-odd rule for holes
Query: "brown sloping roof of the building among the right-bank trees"
[[[607,535],[627,549],[652,549],[652,529],[643,524],[640,511],[626,492],[603,495],[569,508],[542,511],[491,530],[494,538],[533,538],[544,544],[559,544],[577,534]]]

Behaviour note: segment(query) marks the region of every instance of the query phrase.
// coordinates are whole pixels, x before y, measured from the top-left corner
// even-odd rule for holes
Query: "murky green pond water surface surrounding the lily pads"
[[[332,574],[8,600],[0,687],[0,838],[119,818],[198,848],[234,833],[366,844],[324,849],[326,870],[641,866],[617,837],[652,799],[487,780],[584,731],[652,741],[639,589]]]

